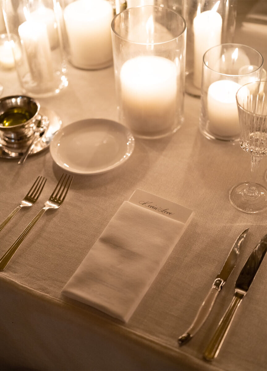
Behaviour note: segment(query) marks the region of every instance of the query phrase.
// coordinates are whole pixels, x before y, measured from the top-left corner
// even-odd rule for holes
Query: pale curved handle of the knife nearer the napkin
[[[204,324],[208,318],[208,315],[210,314],[219,292],[220,289],[218,289],[217,286],[212,286],[200,309],[198,310],[192,325],[182,336],[178,338],[178,343],[180,346],[187,343]]]

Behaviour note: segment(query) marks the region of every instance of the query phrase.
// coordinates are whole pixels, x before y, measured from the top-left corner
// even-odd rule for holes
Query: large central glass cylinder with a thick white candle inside
[[[136,137],[161,138],[181,126],[185,40],[185,20],[164,7],[134,7],[114,17],[119,121]]]

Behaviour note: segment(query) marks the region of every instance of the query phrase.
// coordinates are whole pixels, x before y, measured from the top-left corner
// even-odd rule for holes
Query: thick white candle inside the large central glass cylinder
[[[166,132],[175,126],[177,66],[159,56],[127,60],[120,73],[125,124],[138,134]]]

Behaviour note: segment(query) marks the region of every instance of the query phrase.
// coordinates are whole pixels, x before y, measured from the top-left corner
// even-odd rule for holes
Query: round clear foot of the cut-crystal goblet
[[[256,193],[249,194],[249,183],[235,185],[229,194],[231,204],[244,213],[253,214],[267,209],[267,189],[256,183]]]

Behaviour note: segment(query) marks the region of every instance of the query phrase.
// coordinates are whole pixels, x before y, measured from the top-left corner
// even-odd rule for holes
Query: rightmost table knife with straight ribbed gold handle
[[[260,240],[253,252],[250,254],[237,278],[237,281],[235,282],[234,297],[205,349],[204,358],[207,359],[207,361],[212,361],[213,358],[217,357],[237,308],[247,293],[247,290],[250,288],[266,251],[267,234]]]

